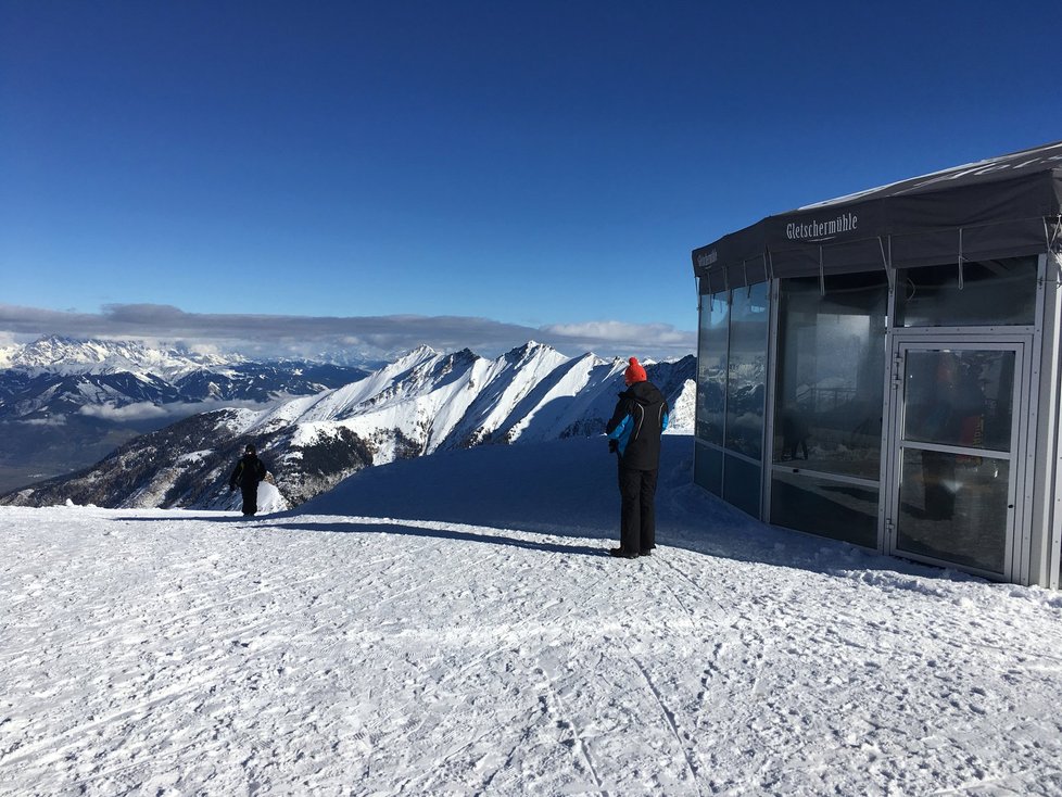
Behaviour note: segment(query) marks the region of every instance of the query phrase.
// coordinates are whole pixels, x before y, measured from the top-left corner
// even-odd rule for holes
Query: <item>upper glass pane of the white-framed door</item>
[[[903,439],[1010,451],[1014,352],[907,352]]]

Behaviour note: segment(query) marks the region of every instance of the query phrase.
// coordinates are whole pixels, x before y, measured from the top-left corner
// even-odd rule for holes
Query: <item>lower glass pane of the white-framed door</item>
[[[897,547],[1002,573],[1009,479],[1003,459],[905,448]]]

